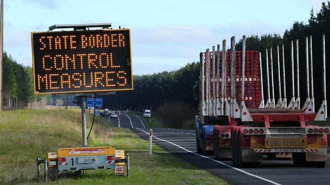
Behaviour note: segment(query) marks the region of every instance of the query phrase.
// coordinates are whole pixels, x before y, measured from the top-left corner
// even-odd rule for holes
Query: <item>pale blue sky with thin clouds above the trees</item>
[[[318,12],[321,0],[64,1],[4,0],[4,50],[32,66],[30,32],[54,24],[112,23],[130,28],[133,74],[172,71],[212,45],[243,35],[283,34]]]

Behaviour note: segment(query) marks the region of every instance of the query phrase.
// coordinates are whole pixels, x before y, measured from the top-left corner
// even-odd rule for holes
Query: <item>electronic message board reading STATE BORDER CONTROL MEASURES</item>
[[[32,32],[35,94],[133,89],[130,30]]]

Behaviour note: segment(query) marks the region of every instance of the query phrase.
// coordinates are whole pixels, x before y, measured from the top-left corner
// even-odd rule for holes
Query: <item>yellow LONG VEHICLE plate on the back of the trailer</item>
[[[265,148],[306,148],[306,137],[265,138]]]

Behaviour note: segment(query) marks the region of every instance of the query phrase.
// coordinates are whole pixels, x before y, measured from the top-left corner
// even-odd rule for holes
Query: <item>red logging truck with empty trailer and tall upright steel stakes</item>
[[[200,53],[200,79],[194,85],[194,98],[199,100],[199,115],[195,117],[197,152],[214,155],[216,159],[231,159],[238,167],[260,165],[266,155],[271,159],[292,158],[293,163],[300,166],[325,166],[330,128],[315,125],[315,121],[326,121],[327,118],[325,36],[322,35],[322,54],[318,54],[322,55],[323,66],[319,71],[322,79],[318,80],[322,81],[323,89],[322,96],[317,97],[322,98],[322,103],[316,111],[312,36],[306,37],[305,42],[307,99],[302,107],[298,39],[295,44],[293,40],[290,42],[290,101],[286,97],[284,44],[277,46],[277,100],[274,95],[272,48],[266,50],[266,101],[263,97],[261,53],[246,51],[245,36],[242,51],[236,51],[235,37],[232,37],[230,51],[226,51],[226,40],[223,40],[222,51],[218,44],[217,50],[213,46],[212,51],[207,49]]]

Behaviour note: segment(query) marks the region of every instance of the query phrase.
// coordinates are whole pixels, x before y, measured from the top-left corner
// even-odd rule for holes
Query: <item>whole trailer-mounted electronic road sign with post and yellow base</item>
[[[86,30],[102,27],[101,30]],[[112,147],[87,147],[86,95],[91,92],[132,90],[130,30],[104,29],[107,24],[54,25],[48,32],[32,32],[32,61],[35,94],[75,93],[81,96],[81,148],[59,148],[47,153],[46,159],[37,157],[38,177],[44,164],[44,177],[57,178],[60,171],[86,169],[114,169],[123,175],[126,164],[129,177],[129,156]],[[74,31],[51,31],[74,28]],[[78,31],[79,30],[79,31]],[[102,107],[102,99],[87,99],[89,107]]]

